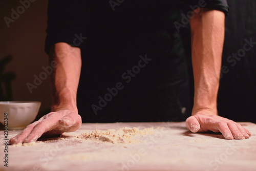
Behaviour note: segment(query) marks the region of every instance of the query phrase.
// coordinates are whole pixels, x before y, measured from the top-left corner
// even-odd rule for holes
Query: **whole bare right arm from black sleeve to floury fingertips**
[[[226,139],[244,139],[251,133],[240,124],[218,116],[217,111],[224,19],[223,12],[209,9],[201,9],[190,19],[195,95],[192,116],[186,119],[186,126],[194,133],[213,131],[221,132]]]

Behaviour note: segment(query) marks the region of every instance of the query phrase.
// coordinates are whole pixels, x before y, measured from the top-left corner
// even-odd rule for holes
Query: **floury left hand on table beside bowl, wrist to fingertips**
[[[74,132],[81,126],[81,116],[71,110],[51,112],[38,121],[29,124],[23,132],[9,140],[10,144],[36,141],[42,135],[56,136]]]

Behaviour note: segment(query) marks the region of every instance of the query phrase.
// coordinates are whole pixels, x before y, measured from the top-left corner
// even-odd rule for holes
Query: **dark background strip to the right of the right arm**
[[[230,15],[226,19],[222,65],[229,72],[223,74],[219,91],[219,113],[227,118],[256,123],[256,45],[235,66],[227,62],[231,53],[243,48],[245,39],[256,42],[256,1],[228,1]]]

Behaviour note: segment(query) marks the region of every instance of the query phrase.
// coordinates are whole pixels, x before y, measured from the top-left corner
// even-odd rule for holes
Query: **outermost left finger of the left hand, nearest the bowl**
[[[42,120],[42,118],[40,118],[38,121],[35,121],[31,124],[29,124],[26,129],[24,129],[21,133],[19,133],[18,135],[16,135],[15,137],[11,138],[9,140],[10,144],[17,144],[17,143],[23,143],[23,141],[27,138],[27,136],[31,133],[31,131],[33,130],[34,126],[39,123]]]

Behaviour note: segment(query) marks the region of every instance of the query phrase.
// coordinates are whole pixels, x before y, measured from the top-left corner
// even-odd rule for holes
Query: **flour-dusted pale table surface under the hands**
[[[252,136],[226,140],[220,133],[191,133],[184,122],[83,123],[74,133],[40,139],[31,146],[8,145],[8,167],[0,170],[256,170],[256,124],[240,122]],[[121,127],[153,127],[136,144],[93,143],[82,133]],[[22,130],[8,131],[8,139]],[[4,131],[1,131],[1,159]],[[29,145],[29,144],[27,144]]]

